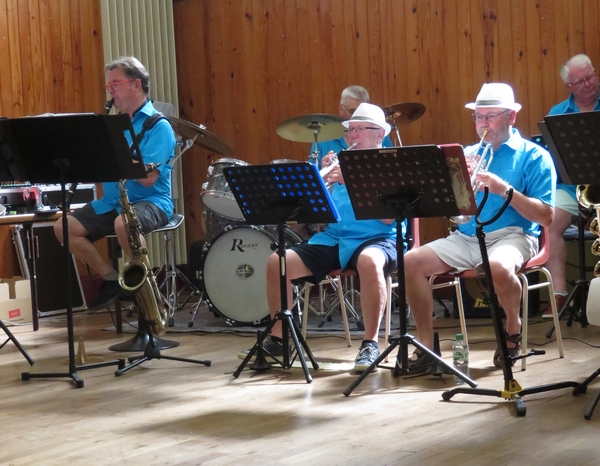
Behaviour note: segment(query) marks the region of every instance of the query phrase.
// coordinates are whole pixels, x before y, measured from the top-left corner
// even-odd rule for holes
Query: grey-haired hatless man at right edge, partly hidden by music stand
[[[560,77],[569,90],[569,98],[552,107],[548,115],[600,110],[600,86],[598,86],[598,78],[592,61],[587,55],[579,54],[571,57],[560,67]],[[559,311],[566,304],[569,295],[567,291],[567,245],[563,234],[580,213],[575,189],[575,185],[557,184],[556,210],[554,220],[550,225],[552,247],[546,268],[552,274],[554,297]],[[588,217],[589,215],[587,213]],[[550,304],[543,311],[542,317],[552,318]]]

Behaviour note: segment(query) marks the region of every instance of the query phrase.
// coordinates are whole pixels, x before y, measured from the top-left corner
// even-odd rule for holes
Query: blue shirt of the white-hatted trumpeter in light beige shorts
[[[478,144],[465,148],[465,153],[473,152],[477,146]],[[498,175],[510,184],[515,191],[554,206],[556,170],[552,158],[544,148],[523,139],[516,129],[512,129],[510,139],[494,152],[494,158],[488,171]],[[483,191],[476,193],[477,205],[481,205],[483,195]],[[480,220],[485,222],[492,218],[498,213],[503,204],[504,198],[502,196],[489,194]],[[473,215],[470,222],[459,225],[458,228],[465,235],[475,235],[476,227],[477,224]],[[490,233],[506,227],[521,227],[525,234],[540,235],[539,224],[527,220],[511,205],[506,208],[498,220],[484,227],[484,231]]]

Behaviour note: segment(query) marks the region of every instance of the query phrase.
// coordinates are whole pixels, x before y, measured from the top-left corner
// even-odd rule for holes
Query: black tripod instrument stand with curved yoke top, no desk
[[[494,331],[496,333],[496,341],[498,342],[498,347],[500,348],[501,353],[502,353],[502,359],[501,359],[500,365],[501,365],[502,371],[504,373],[504,389],[503,390],[489,390],[489,389],[485,389],[485,388],[458,387],[458,388],[454,388],[452,390],[445,391],[442,394],[442,399],[444,401],[448,401],[454,395],[456,395],[458,393],[467,393],[470,395],[483,395],[483,396],[494,396],[494,397],[499,397],[499,398],[505,398],[507,400],[513,400],[515,402],[517,416],[525,416],[525,414],[527,413],[527,408],[525,407],[525,403],[523,402],[523,399],[522,399],[523,396],[530,395],[532,393],[542,393],[542,392],[547,392],[550,390],[559,390],[561,388],[567,388],[567,387],[578,387],[579,384],[577,382],[559,382],[559,383],[554,383],[554,384],[549,384],[549,385],[540,385],[537,387],[523,389],[523,388],[521,388],[519,383],[513,378],[513,373],[512,373],[513,361],[523,359],[523,358],[526,358],[529,356],[534,356],[539,353],[536,352],[535,350],[532,350],[528,354],[520,355],[520,356],[516,356],[516,357],[510,356],[508,353],[508,348],[506,346],[506,336],[505,336],[504,329],[502,326],[502,316],[500,315],[500,312],[499,312],[500,306],[498,304],[498,297],[496,296],[496,292],[494,291],[494,283],[492,281],[492,271],[490,269],[490,262],[489,262],[489,258],[487,255],[487,247],[485,244],[485,233],[483,231],[483,227],[494,223],[496,220],[498,220],[498,218],[500,218],[502,213],[504,213],[504,211],[510,204],[513,191],[511,188],[511,190],[508,192],[508,196],[507,196],[503,206],[496,213],[496,215],[494,215],[490,220],[488,220],[486,222],[481,222],[479,220],[479,215],[485,206],[485,203],[488,199],[488,194],[489,194],[489,191],[486,186],[483,200],[481,201],[481,205],[477,209],[477,215],[476,215],[475,219],[477,222],[477,228],[476,228],[477,239],[479,241],[479,249],[481,251],[482,265],[483,265],[483,270],[485,272],[485,279],[487,281],[489,300],[490,300],[490,310],[492,313],[492,321],[494,323]],[[527,318],[527,309],[523,310],[523,314],[524,314],[523,318],[526,319]]]

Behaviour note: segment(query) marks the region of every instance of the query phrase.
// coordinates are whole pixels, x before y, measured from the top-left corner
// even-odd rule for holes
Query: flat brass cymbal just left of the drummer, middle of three
[[[277,134],[290,141],[314,142],[317,131],[318,142],[330,141],[344,135],[344,120],[340,116],[325,113],[301,115],[279,123]]]

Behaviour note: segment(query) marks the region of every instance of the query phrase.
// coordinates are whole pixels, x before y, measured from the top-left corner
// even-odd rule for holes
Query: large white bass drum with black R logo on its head
[[[286,246],[301,242],[287,227]],[[229,324],[253,325],[269,317],[267,259],[277,231],[263,227],[227,227],[204,245],[201,277],[206,301]]]

